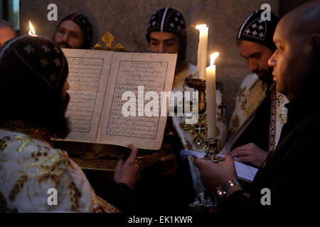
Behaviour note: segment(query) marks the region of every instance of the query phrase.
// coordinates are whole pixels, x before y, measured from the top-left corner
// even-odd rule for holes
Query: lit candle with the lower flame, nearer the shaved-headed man
[[[206,68],[206,103],[207,103],[207,122],[208,138],[217,136],[217,99],[215,94],[215,58],[219,56],[218,52],[210,55],[210,66]]]

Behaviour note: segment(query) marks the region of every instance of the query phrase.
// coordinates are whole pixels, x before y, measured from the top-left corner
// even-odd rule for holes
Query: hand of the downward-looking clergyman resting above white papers
[[[236,159],[237,162],[250,162],[258,167],[262,166],[267,155],[268,153],[265,150],[262,150],[254,143],[242,145],[230,153],[231,157],[238,157]]]

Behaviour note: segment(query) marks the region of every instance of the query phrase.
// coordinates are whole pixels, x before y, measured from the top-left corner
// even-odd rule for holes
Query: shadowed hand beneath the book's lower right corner
[[[169,143],[164,144],[164,151],[168,155],[165,155],[160,159],[161,162],[163,163],[161,167],[160,175],[161,176],[172,175],[176,173],[176,171],[178,170],[178,165],[176,163],[176,155],[172,153],[172,145],[170,145]]]

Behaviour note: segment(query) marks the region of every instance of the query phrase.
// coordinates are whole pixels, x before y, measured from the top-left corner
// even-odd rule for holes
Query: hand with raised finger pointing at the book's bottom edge
[[[114,169],[113,179],[116,184],[127,184],[133,190],[135,184],[140,178],[139,165],[135,163],[138,150],[132,144],[127,146],[131,149],[130,156],[127,158],[125,162],[122,159],[119,160],[117,166]]]

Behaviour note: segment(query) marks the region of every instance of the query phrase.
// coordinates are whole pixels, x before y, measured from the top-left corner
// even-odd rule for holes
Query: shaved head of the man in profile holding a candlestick
[[[274,32],[277,50],[268,63],[277,90],[289,101],[309,99],[318,90],[311,87],[319,87],[319,21],[320,1],[309,1],[287,13]]]

